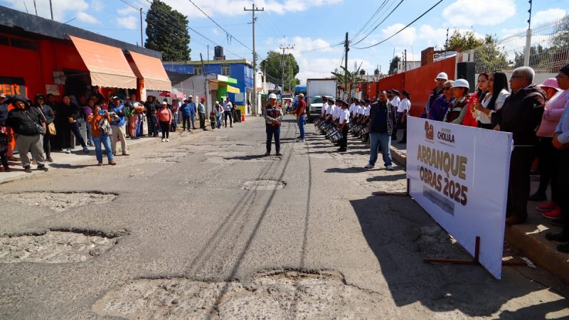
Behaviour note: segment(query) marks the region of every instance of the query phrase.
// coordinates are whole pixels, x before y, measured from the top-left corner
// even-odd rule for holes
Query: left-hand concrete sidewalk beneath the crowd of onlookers
[[[209,122],[207,122],[206,124],[208,124]],[[208,130],[211,130],[211,127],[208,128]],[[179,128],[178,130],[176,130],[176,132],[170,132],[170,139],[177,139],[179,137],[185,137],[189,134],[200,134],[201,132],[203,132],[203,130],[201,129],[195,129],[192,130],[191,133],[188,132],[181,132],[181,129]],[[127,138],[127,146],[129,149],[129,154],[130,156],[136,156],[136,153],[131,152],[132,150],[136,150],[139,147],[148,145],[151,142],[160,142],[161,140],[161,136],[159,137],[142,137],[140,139],[135,139],[132,140],[130,138]],[[54,170],[60,170],[60,169],[70,169],[73,167],[77,167],[78,169],[80,169],[82,166],[81,164],[83,163],[92,163],[92,164],[97,164],[97,159],[95,159],[95,147],[94,146],[89,146],[89,154],[85,154],[85,152],[83,152],[83,149],[81,148],[81,146],[76,146],[75,149],[71,149],[71,154],[65,154],[65,151],[52,151],[51,153],[51,158],[53,159],[53,162],[46,162],[46,166],[48,166],[49,171],[54,171]],[[107,164],[107,156],[105,154],[105,149],[102,150],[103,151],[103,164],[106,165]],[[124,156],[122,156],[120,154],[120,142],[117,142],[117,156],[115,156],[115,161],[120,161],[120,159]],[[9,165],[10,165],[10,172],[5,172],[2,171],[0,172],[0,184],[1,183],[7,183],[10,181],[15,181],[21,178],[32,178],[36,175],[41,175],[43,174],[43,171],[37,171],[36,170],[36,165],[32,164],[31,165],[31,169],[32,172],[30,174],[26,173],[23,171],[23,168],[21,166],[21,162],[20,162],[20,158],[17,154],[14,154],[14,156],[16,157],[17,160],[14,161],[9,161]]]

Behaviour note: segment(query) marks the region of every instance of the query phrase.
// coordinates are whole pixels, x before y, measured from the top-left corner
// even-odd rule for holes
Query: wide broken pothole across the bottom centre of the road
[[[137,279],[108,292],[92,310],[127,319],[365,319],[381,314],[377,292],[346,284],[339,272],[259,272],[237,280]]]

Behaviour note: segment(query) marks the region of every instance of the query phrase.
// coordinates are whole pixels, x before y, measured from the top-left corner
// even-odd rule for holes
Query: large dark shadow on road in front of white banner
[[[481,266],[425,264],[426,257],[467,256],[458,244],[426,234],[425,228],[437,224],[408,197],[369,196],[350,203],[397,306],[419,302],[435,312],[492,316],[512,299],[546,289],[516,272],[504,272],[496,280]],[[561,299],[516,309],[519,303],[505,306],[516,311],[501,311],[500,319],[546,319],[568,305]]]

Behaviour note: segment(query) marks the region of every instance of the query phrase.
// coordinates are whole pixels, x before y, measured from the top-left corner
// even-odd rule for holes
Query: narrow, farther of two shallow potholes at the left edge
[[[1,201],[17,201],[28,206],[46,206],[55,212],[62,212],[77,206],[92,203],[109,203],[117,198],[116,193],[90,192],[22,192],[0,195]]]

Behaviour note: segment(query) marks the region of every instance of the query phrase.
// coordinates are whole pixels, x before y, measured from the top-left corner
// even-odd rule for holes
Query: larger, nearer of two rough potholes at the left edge
[[[50,230],[45,233],[0,237],[0,263],[82,262],[102,255],[127,231]]]

